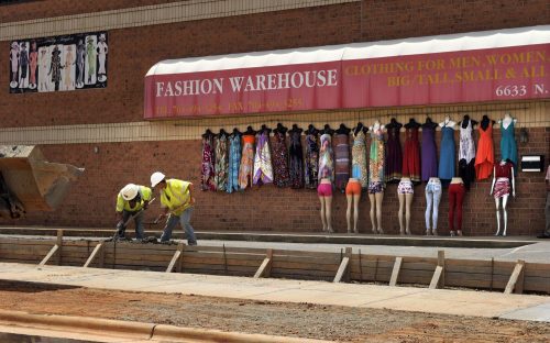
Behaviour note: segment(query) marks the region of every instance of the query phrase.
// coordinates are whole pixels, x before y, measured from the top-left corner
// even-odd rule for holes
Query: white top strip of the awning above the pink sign
[[[151,67],[146,76],[473,51],[546,43],[550,43],[550,25],[166,59]]]

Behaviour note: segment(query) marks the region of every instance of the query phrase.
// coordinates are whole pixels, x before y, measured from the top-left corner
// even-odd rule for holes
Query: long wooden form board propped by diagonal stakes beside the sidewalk
[[[57,243],[50,240],[0,239],[0,261],[38,263]],[[82,266],[96,250],[97,241],[63,241],[61,262],[63,265]],[[165,272],[178,246],[161,244],[103,243],[103,266]],[[58,251],[57,251],[58,252]],[[50,263],[56,263],[56,253]],[[99,266],[99,253],[90,265]],[[345,254],[306,251],[273,250],[270,277],[314,279],[333,281],[342,267]],[[440,256],[441,257],[441,256]],[[183,273],[254,276],[266,258],[265,248],[185,246],[173,269]],[[346,267],[340,273],[349,274],[351,281],[388,284],[395,266],[395,256],[351,254]],[[54,262],[53,262],[54,261]],[[398,284],[418,284],[428,287],[435,272],[441,266],[438,257],[404,256],[398,273]],[[474,261],[446,258],[441,277],[444,286],[505,290],[516,267],[515,262]],[[550,264],[525,263],[522,275],[524,291],[550,294]],[[266,275],[264,275],[265,277]],[[396,281],[396,284],[397,284]],[[516,285],[517,286],[517,285]],[[516,289],[518,291],[518,289]]]

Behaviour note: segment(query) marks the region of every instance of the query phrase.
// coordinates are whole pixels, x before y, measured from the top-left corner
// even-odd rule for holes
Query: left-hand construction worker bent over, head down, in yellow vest
[[[134,184],[124,186],[117,196],[117,237],[124,239],[124,231],[129,220],[133,217],[135,223],[135,239],[143,240],[143,211],[151,201],[151,188]]]

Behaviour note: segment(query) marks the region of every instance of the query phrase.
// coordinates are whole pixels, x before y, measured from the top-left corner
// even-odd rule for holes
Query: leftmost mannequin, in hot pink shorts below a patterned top
[[[334,179],[334,162],[332,153],[332,137],[334,131],[327,124],[321,135],[321,147],[319,151],[319,186],[317,195],[321,202],[322,231],[328,233],[332,230],[332,180]]]

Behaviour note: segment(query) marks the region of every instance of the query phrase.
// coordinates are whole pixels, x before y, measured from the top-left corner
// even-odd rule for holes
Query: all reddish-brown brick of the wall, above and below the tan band
[[[70,4],[69,4],[70,2]],[[169,1],[25,2],[0,7],[2,22]],[[82,8],[85,7],[85,8]],[[143,118],[143,76],[167,58],[266,51],[349,42],[403,38],[504,27],[548,24],[548,1],[363,1],[216,20],[109,31],[109,87],[56,93],[0,92],[0,126],[66,125],[135,122]],[[0,46],[9,46],[8,42]],[[0,55],[0,85],[8,85],[9,54]],[[420,111],[420,110],[419,110]],[[544,115],[548,115],[546,113]],[[496,132],[496,131],[495,131]],[[550,158],[550,128],[529,129],[530,141],[519,154]],[[438,137],[439,140],[440,137]],[[458,140],[457,140],[458,142]],[[499,142],[496,132],[495,142]],[[99,153],[94,153],[94,146]],[[495,145],[498,147],[498,144]],[[148,184],[152,172],[199,184],[200,142],[163,141],[105,144],[44,145],[51,161],[87,168],[58,211],[31,213],[22,224],[109,226],[114,223],[114,197],[127,182]],[[498,154],[498,148],[497,148]],[[490,181],[475,182],[464,202],[464,232],[495,231],[495,204]],[[424,185],[415,188],[413,231],[424,230]],[[509,234],[535,234],[543,226],[546,190],[542,173],[520,173],[517,199],[508,204]],[[319,200],[315,191],[253,188],[242,193],[197,190],[197,230],[319,231]],[[147,215],[158,209],[158,202]],[[369,200],[360,204],[360,231],[370,232]],[[384,199],[384,229],[398,231],[396,185]],[[447,228],[448,198],[443,192],[439,228]],[[334,197],[334,228],[345,230],[345,197]]]

